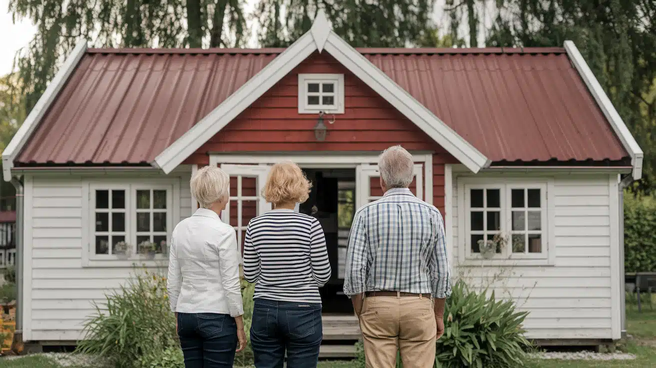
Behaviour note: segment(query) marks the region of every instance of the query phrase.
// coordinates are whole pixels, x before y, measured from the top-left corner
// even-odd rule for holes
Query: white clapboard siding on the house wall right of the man
[[[478,175],[483,176],[483,175]],[[499,180],[499,176],[494,180]],[[514,178],[522,178],[515,175]],[[552,266],[459,266],[458,178],[453,177],[455,274],[472,287],[490,286],[529,312],[529,338],[611,338],[611,197],[607,175],[555,176],[555,264]]]

